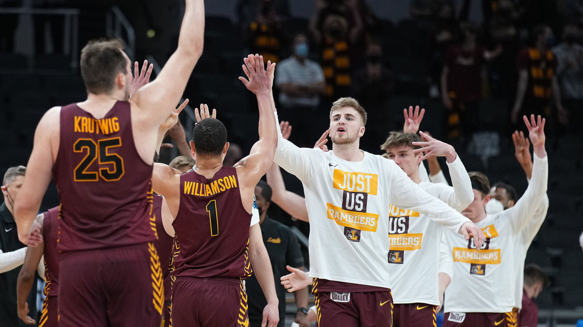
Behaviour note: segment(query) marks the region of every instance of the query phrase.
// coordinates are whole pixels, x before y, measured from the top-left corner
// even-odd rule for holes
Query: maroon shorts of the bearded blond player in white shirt
[[[316,317],[320,327],[392,326],[392,312],[390,291],[316,293]]]

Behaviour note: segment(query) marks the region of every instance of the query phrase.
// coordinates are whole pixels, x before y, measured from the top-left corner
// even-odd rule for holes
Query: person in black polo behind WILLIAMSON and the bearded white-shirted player
[[[267,209],[271,204],[271,187],[263,180],[255,186],[255,200],[259,209],[259,226],[271,267],[275,277],[275,290],[279,299],[279,317],[278,327],[285,325],[283,317],[286,316],[286,289],[279,282],[279,277],[287,274],[286,266],[292,266],[304,271],[304,257],[300,251],[300,244],[296,235],[282,223],[276,222],[267,216]],[[249,305],[249,322],[251,326],[261,326],[262,311],[267,301],[259,287],[257,278],[252,275],[245,280],[245,289],[248,294]],[[297,314],[294,319],[301,327],[308,327],[308,289],[297,290],[294,292],[296,298]]]

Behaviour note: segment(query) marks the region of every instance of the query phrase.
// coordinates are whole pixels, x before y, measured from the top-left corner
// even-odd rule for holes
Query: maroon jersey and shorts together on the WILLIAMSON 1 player
[[[250,223],[236,168],[223,166],[212,179],[194,170],[180,177],[173,326],[248,325],[242,280],[251,273]]]

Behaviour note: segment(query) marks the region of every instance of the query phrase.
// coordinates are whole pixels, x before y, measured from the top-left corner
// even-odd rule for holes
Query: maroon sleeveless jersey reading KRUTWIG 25
[[[64,106],[60,135],[52,168],[61,200],[59,250],[156,240],[152,165],[136,150],[129,102],[116,102],[101,119],[76,104]]]

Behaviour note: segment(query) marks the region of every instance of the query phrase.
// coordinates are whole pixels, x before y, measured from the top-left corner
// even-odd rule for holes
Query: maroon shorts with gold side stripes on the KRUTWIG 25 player
[[[61,254],[60,327],[160,327],[162,271],[152,243]]]

